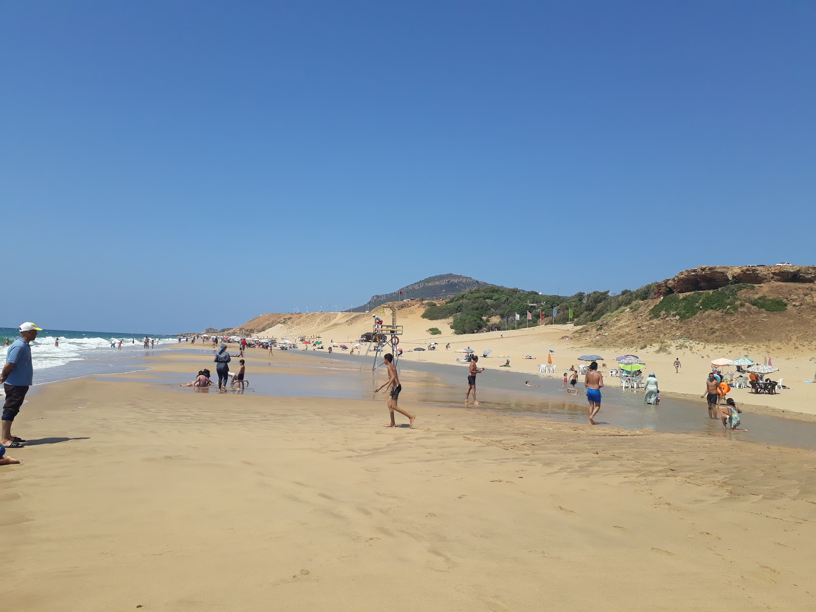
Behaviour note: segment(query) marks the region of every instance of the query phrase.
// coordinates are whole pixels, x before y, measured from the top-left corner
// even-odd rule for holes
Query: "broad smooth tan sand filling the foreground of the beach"
[[[31,397],[0,472],[10,609],[816,604],[812,451],[162,383],[195,359]],[[251,372],[308,370],[273,359]]]

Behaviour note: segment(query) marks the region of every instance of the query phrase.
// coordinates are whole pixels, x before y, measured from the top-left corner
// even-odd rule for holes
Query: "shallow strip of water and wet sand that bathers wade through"
[[[259,352],[260,353],[260,352]],[[278,357],[280,354],[280,357]],[[187,357],[180,357],[186,355]],[[211,352],[174,352],[158,356],[153,363],[156,372],[165,372],[168,362],[187,361],[188,370],[197,371]],[[251,379],[250,392],[278,397],[338,397],[344,399],[374,399],[372,388],[382,384],[384,374],[372,375],[370,357],[362,360],[340,353],[329,356],[317,351],[278,352],[268,358],[247,353],[247,364],[260,370]],[[483,360],[490,361],[490,360]],[[480,361],[480,366],[483,363]],[[266,366],[272,363],[273,366]],[[277,365],[275,365],[277,364]],[[360,367],[362,366],[362,367]],[[400,361],[401,382],[405,401],[419,401],[435,406],[463,406],[467,389],[467,367],[450,366],[432,361]],[[268,370],[272,367],[272,370]],[[296,368],[296,373],[295,369]],[[279,374],[286,372],[286,376]],[[320,375],[319,378],[310,378]],[[525,387],[529,380],[539,388]],[[181,379],[172,378],[181,382]],[[378,382],[379,381],[379,382]],[[514,415],[539,416],[569,423],[587,423],[588,406],[579,379],[579,394],[568,395],[561,379],[539,377],[520,372],[486,370],[478,375],[478,410],[494,410]],[[605,378],[599,424],[627,429],[650,429],[659,432],[685,432],[779,446],[816,448],[816,423],[786,419],[776,415],[756,414],[752,406],[744,410],[741,428],[747,432],[730,432],[719,419],[708,419],[707,403],[694,397],[663,398],[659,406],[644,403],[643,390],[623,391],[619,380]]]

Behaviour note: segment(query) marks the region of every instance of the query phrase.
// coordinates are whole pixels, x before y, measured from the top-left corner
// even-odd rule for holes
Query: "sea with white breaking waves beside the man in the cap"
[[[144,349],[144,337],[156,340],[154,348]],[[0,364],[6,361],[5,339],[20,337],[16,327],[0,327]],[[55,346],[55,339],[60,346]],[[118,349],[122,340],[122,350]],[[131,334],[111,331],[43,330],[31,343],[34,384],[77,378],[89,374],[121,374],[133,370],[139,357],[166,350],[178,344],[175,336]],[[111,348],[111,343],[116,348]]]

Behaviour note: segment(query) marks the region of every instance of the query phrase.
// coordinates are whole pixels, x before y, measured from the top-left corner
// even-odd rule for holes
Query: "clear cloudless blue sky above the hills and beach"
[[[2,2],[0,325],[814,264],[812,2]],[[18,290],[14,290],[17,287]]]

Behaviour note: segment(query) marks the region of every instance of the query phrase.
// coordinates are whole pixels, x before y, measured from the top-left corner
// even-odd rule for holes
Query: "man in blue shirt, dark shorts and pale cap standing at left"
[[[11,343],[8,348],[6,365],[0,372],[0,383],[3,384],[3,389],[6,391],[6,403],[2,407],[0,444],[9,448],[20,448],[24,442],[22,438],[11,435],[11,424],[17,413],[20,412],[25,394],[29,392],[29,387],[34,382],[29,342],[37,337],[38,331],[42,329],[31,322],[23,323],[20,326],[20,338]]]

